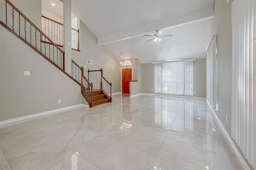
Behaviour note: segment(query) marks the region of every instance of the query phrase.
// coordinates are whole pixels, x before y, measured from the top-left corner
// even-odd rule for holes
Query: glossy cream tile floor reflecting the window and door
[[[0,129],[1,170],[242,170],[205,100],[113,96]]]

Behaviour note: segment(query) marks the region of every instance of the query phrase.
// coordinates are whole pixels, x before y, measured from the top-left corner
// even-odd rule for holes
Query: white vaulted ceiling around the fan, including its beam
[[[213,0],[72,0],[72,12],[118,60],[151,63],[206,57]],[[146,42],[156,29],[173,37]]]

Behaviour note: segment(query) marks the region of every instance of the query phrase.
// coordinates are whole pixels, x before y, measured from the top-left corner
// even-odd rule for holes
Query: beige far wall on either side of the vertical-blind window
[[[194,61],[194,97],[206,97],[206,59]],[[153,89],[153,91],[152,91]],[[142,64],[142,93],[154,93],[154,64]]]

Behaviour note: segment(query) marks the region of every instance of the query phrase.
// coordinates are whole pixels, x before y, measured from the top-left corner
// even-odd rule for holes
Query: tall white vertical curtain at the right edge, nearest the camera
[[[232,2],[231,137],[256,168],[256,1]]]

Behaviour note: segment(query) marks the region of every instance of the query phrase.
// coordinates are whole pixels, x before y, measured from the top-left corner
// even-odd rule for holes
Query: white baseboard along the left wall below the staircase
[[[35,114],[32,114],[32,115],[16,117],[16,118],[13,118],[13,119],[8,119],[8,120],[0,121],[0,128],[25,122],[26,119],[30,119],[30,118],[34,118],[34,117],[38,117],[38,116],[42,116],[42,115],[47,115],[47,114],[55,113],[55,112],[58,112],[58,111],[64,111],[64,110],[68,110],[68,109],[73,109],[73,108],[76,108],[76,107],[82,107],[82,106],[83,107],[89,107],[88,105],[78,104],[78,105],[74,105],[74,106],[62,107],[60,109],[44,111],[44,112],[41,112],[41,113],[35,113]]]

